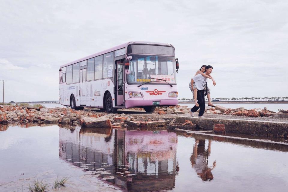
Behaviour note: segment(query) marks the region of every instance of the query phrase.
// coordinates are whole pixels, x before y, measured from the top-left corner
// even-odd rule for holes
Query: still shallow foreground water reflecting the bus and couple
[[[57,176],[70,177],[68,191],[77,186],[82,191],[98,189],[101,179],[107,182],[102,191],[285,191],[288,187],[288,149],[282,145],[166,130],[58,125],[0,130],[0,191],[21,185],[27,191],[25,186],[33,179],[52,183]]]

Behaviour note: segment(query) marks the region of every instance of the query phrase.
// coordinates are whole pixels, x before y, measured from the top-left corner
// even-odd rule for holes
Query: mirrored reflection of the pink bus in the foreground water
[[[111,174],[101,177],[129,191],[173,189],[176,147],[176,133],[167,131],[75,127],[59,134],[60,158],[87,171],[104,168]]]

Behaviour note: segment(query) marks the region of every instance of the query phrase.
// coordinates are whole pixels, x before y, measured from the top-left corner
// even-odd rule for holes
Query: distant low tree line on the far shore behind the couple
[[[179,101],[193,101],[194,99],[182,98]],[[242,98],[212,98],[221,101],[288,101],[288,97],[242,97]]]

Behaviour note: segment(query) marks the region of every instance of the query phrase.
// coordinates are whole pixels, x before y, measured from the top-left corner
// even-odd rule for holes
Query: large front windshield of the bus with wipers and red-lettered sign
[[[167,80],[171,84],[175,81],[175,57],[158,55],[131,55],[129,84],[141,84],[156,79]],[[158,81],[159,83],[159,81]],[[161,81],[161,83],[165,83]]]

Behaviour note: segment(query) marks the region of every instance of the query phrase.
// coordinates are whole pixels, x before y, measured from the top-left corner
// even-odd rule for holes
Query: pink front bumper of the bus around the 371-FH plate
[[[126,100],[125,107],[143,107],[152,106],[153,101],[160,101],[160,105],[157,106],[176,106],[178,105],[178,99],[165,99],[165,100]]]

